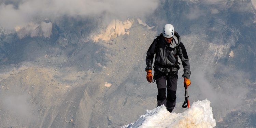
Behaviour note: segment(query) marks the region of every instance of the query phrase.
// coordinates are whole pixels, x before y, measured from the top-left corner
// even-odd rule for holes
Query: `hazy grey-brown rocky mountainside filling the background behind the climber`
[[[135,122],[156,108],[157,89],[145,79],[145,57],[166,23],[181,35],[190,58],[190,102],[210,100],[216,127],[229,122],[254,127],[255,17],[248,0],[175,0],[161,1],[143,18],[113,18],[108,24],[101,17],[66,16],[15,32],[1,29],[0,127]],[[176,113],[185,111],[182,73],[181,66]]]

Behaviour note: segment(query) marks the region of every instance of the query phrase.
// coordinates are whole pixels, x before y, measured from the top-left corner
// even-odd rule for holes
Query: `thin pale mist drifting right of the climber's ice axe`
[[[203,66],[202,66],[203,67]],[[197,88],[199,100],[207,98],[214,108],[215,119],[219,120],[225,114],[243,107],[243,101],[249,92],[245,72],[229,69],[227,66],[220,69],[193,70],[193,85]],[[218,76],[219,75],[219,76]],[[191,83],[192,83],[191,82]],[[196,93],[190,93],[191,96]]]

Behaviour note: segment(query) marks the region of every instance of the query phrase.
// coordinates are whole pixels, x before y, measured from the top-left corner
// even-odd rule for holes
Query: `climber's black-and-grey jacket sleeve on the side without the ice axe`
[[[147,56],[146,56],[146,70],[152,69],[152,63],[154,59],[154,54],[156,53],[156,39],[153,41],[153,43],[150,45],[150,47],[147,50]]]

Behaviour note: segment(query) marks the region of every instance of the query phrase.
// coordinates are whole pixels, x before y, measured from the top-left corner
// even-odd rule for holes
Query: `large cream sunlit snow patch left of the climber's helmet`
[[[124,35],[124,34],[130,34],[130,31],[128,29],[131,28],[133,24],[133,20],[128,19],[125,22],[122,22],[118,19],[112,20],[108,27],[106,28],[105,32],[96,35],[93,37],[94,42],[98,42],[100,39],[103,41],[108,41],[110,39],[117,38],[119,35]]]

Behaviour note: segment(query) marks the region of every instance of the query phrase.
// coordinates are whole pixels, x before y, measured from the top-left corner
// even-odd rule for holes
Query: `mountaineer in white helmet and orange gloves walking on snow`
[[[156,54],[156,55],[155,55]],[[154,77],[152,75],[152,63],[154,61]],[[146,79],[148,82],[156,82],[158,95],[157,106],[164,104],[169,112],[172,112],[175,107],[176,90],[178,80],[178,70],[180,69],[181,59],[184,68],[184,87],[190,85],[190,65],[186,52],[186,48],[181,42],[180,35],[174,31],[171,24],[166,24],[163,27],[162,33],[153,41],[147,51],[146,56]],[[167,96],[166,96],[167,88]]]

